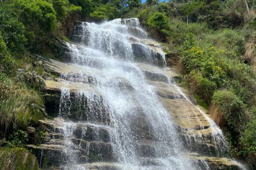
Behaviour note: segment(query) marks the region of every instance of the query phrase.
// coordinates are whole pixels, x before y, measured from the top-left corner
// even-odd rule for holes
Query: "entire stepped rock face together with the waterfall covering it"
[[[142,33],[136,19],[77,23],[83,45],[67,43],[75,64],[37,56],[57,76],[42,80],[42,144],[27,145],[42,169],[240,169],[221,158],[221,130],[175,70],[152,66],[163,64],[161,44]]]

